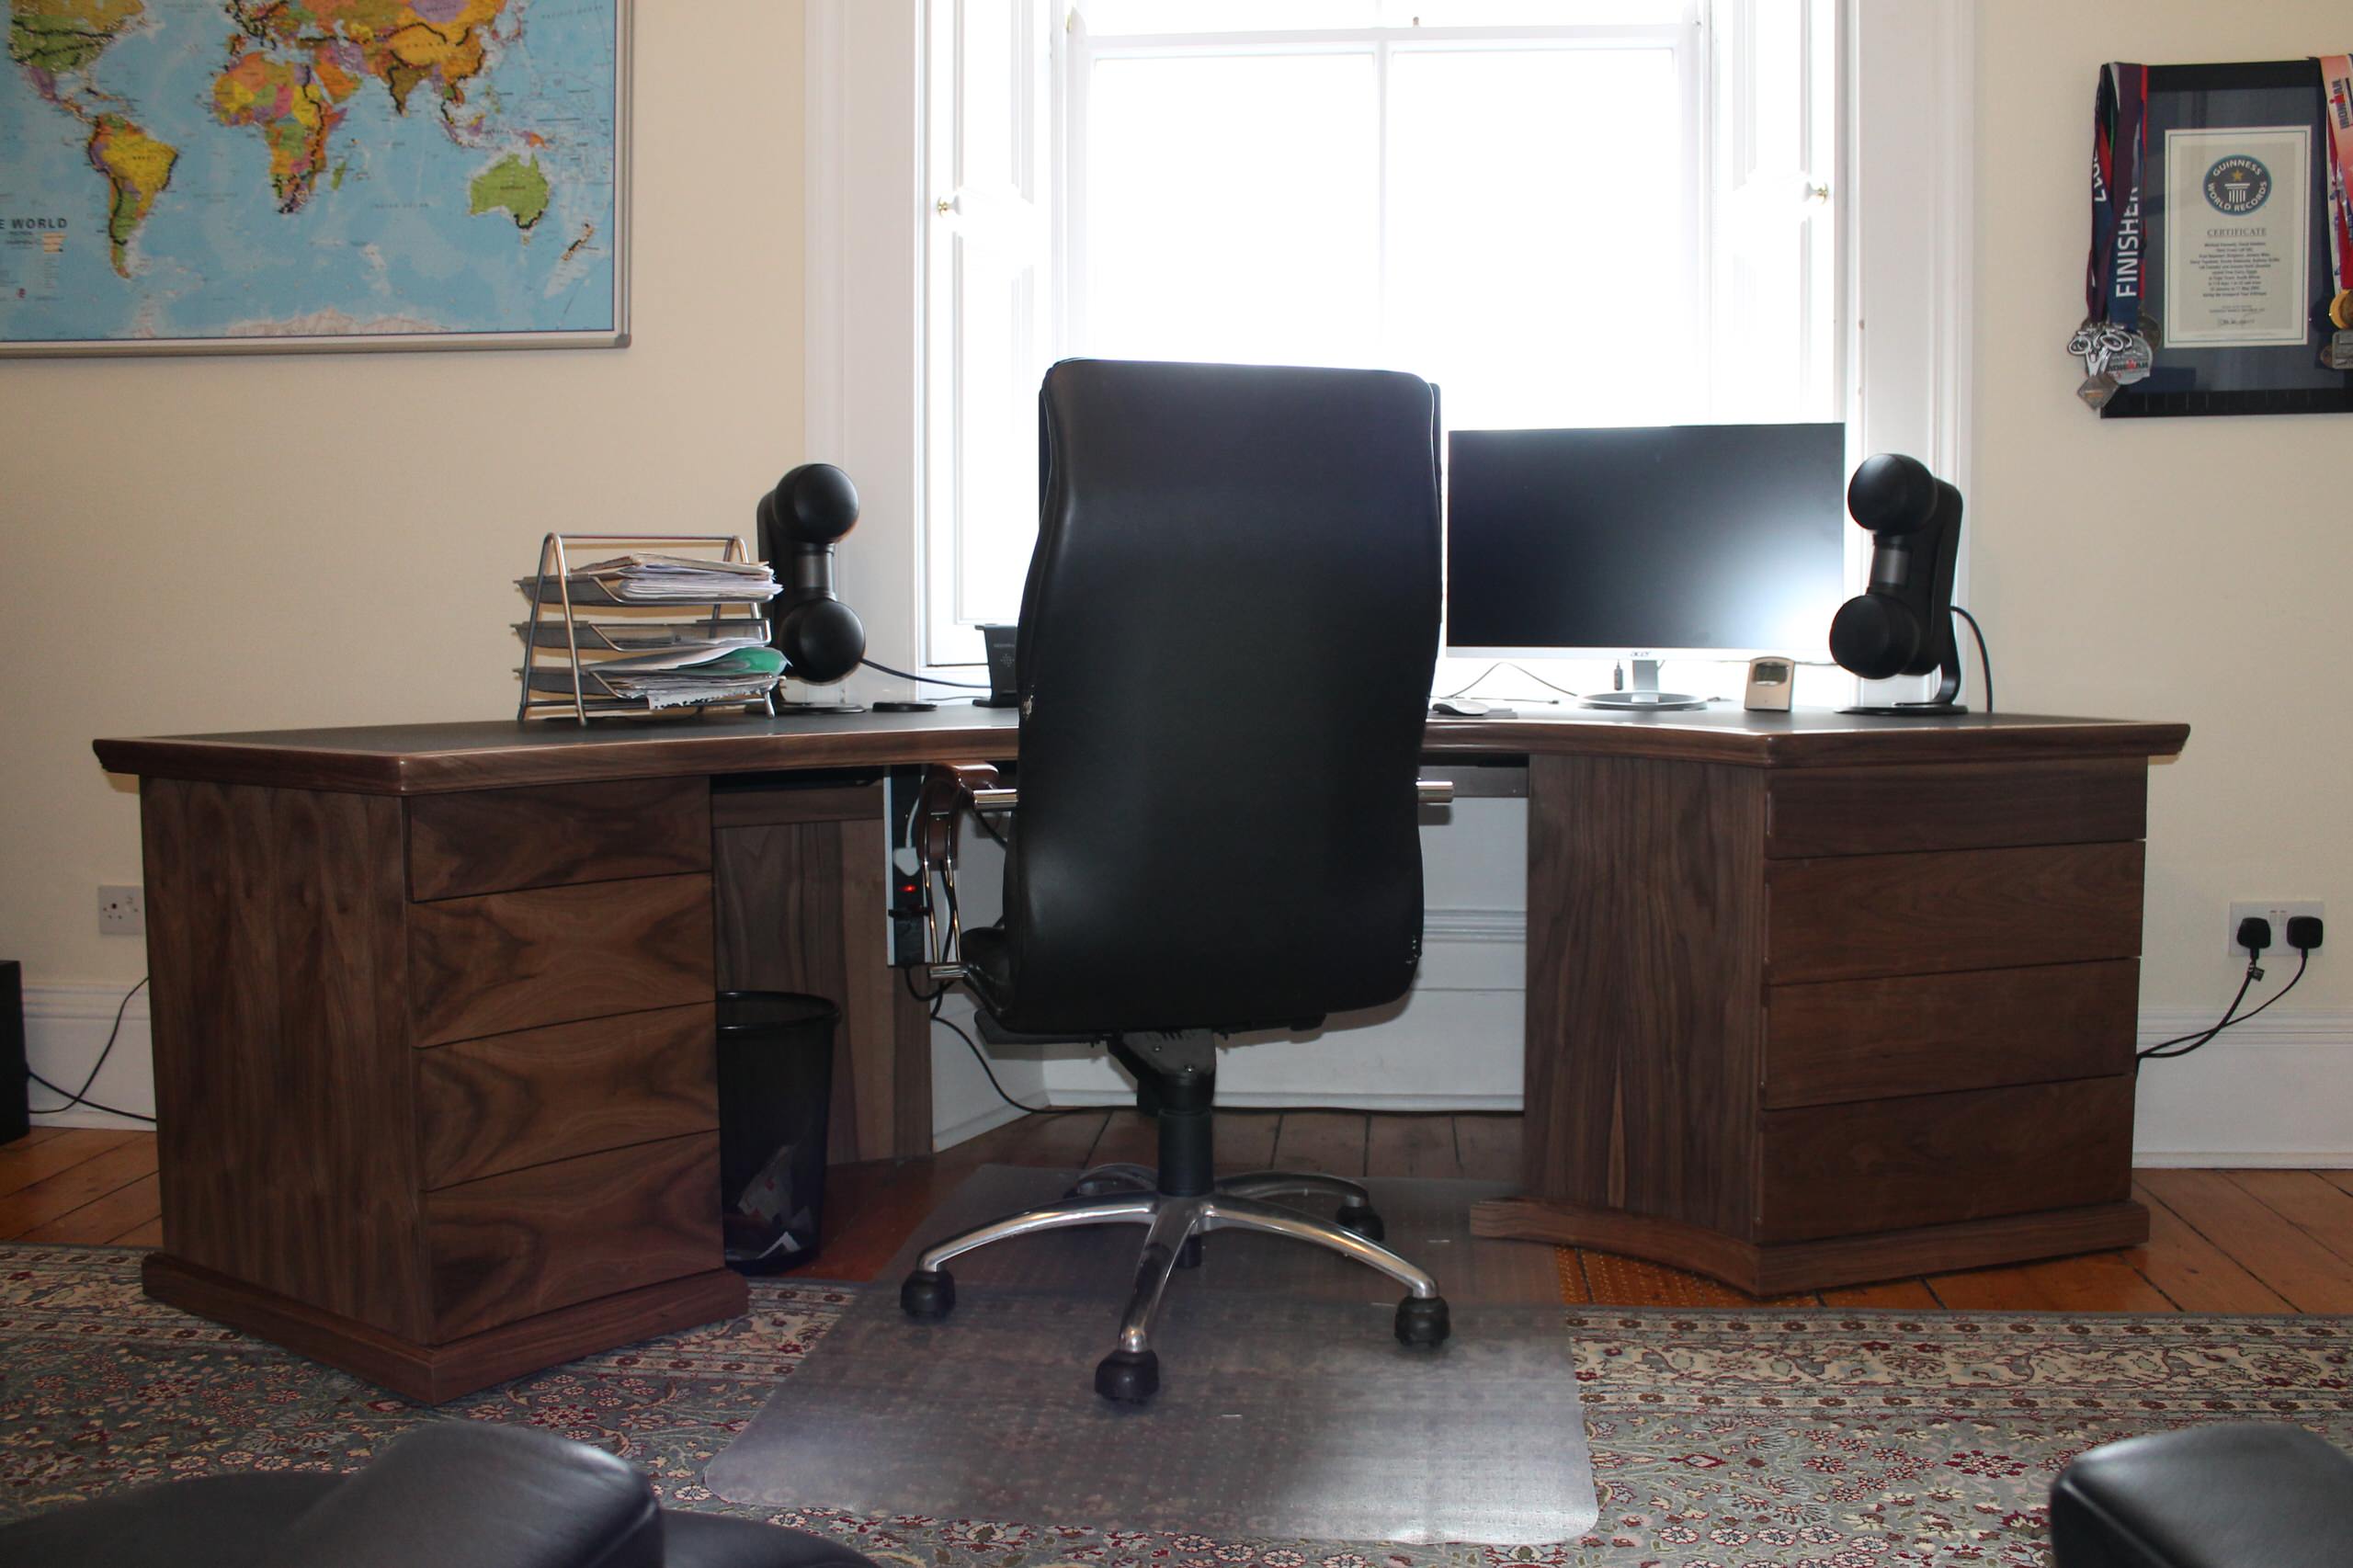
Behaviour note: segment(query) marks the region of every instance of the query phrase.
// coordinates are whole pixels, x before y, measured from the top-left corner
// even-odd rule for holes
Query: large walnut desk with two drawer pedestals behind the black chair
[[[1433,720],[1527,763],[1525,1198],[1751,1290],[2146,1236],[2146,768],[2184,725]],[[833,1154],[927,1154],[878,772],[1005,711],[101,739],[139,775],[146,1288],[440,1401],[741,1311],[711,998],[835,996]]]

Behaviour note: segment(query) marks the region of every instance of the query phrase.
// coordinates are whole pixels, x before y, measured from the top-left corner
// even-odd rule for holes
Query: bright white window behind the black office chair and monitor
[[[1071,353],[1454,426],[1835,419],[1833,0],[934,0],[925,655],[1014,619]]]

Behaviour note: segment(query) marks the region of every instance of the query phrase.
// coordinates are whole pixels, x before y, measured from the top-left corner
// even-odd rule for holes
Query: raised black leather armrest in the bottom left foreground
[[[546,1431],[447,1420],[395,1439],[259,1568],[661,1568],[642,1474]]]

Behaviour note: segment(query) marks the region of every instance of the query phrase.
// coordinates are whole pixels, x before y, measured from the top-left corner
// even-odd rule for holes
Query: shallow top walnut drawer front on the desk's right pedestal
[[[1765,855],[1894,855],[2148,836],[2148,763],[1795,768],[1765,782]]]

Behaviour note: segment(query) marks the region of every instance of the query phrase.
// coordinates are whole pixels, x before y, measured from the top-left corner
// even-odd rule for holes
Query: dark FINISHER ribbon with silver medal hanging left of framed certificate
[[[2146,377],[2158,358],[2141,332],[2146,148],[2148,66],[2111,61],[2092,106],[2092,254],[2082,271],[2082,325],[2066,346],[2082,360],[2075,396],[2092,407]]]

